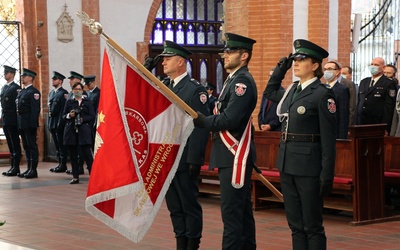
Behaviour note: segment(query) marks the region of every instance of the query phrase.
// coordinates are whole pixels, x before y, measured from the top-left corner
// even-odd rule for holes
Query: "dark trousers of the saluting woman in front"
[[[322,225],[323,200],[318,176],[294,176],[280,172],[286,219],[292,230],[294,250],[326,249]]]

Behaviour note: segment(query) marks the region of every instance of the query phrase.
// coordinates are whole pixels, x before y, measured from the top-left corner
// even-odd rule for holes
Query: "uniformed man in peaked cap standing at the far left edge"
[[[21,87],[14,82],[17,69],[4,65],[4,79],[7,83],[1,89],[1,122],[3,132],[6,136],[8,150],[11,154],[11,168],[3,172],[5,176],[16,176],[19,174],[19,163],[21,160],[21,145],[19,142],[19,133],[17,125],[17,107],[15,100]]]

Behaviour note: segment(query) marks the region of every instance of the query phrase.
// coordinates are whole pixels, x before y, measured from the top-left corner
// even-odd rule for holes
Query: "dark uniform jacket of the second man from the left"
[[[33,85],[23,88],[17,96],[18,129],[39,127],[40,92]]]

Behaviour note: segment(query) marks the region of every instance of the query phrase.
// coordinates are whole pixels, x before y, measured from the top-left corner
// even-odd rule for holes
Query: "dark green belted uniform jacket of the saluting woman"
[[[320,176],[332,180],[336,158],[335,94],[319,79],[303,89],[293,100],[298,83],[290,89],[281,106],[288,119],[282,122],[282,132],[294,134],[319,134],[319,142],[284,141],[281,139],[277,159],[280,171],[296,176]],[[280,81],[271,77],[264,94],[279,102],[284,91]]]

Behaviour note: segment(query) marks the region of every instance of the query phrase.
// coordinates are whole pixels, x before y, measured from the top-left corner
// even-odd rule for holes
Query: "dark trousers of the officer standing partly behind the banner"
[[[203,211],[197,200],[197,180],[190,178],[189,171],[178,170],[165,195],[175,237],[201,238]]]

